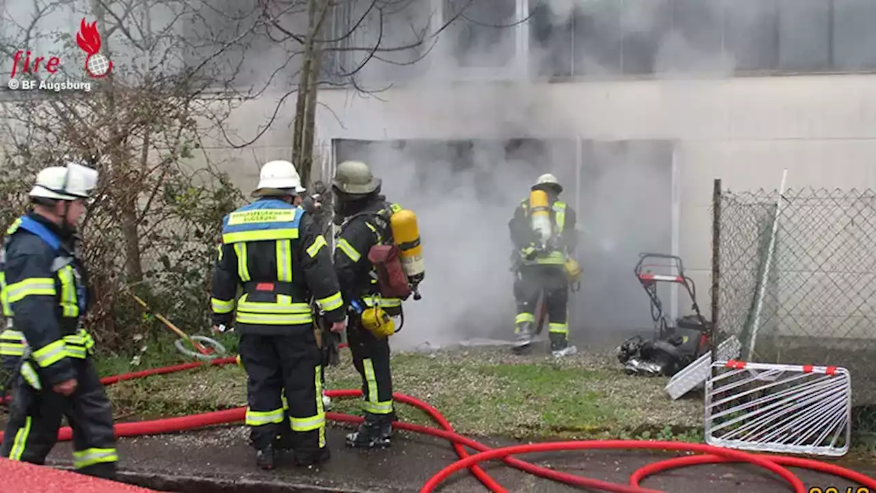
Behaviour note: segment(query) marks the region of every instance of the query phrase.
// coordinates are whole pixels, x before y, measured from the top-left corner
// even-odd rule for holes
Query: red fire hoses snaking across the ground
[[[132,380],[135,378],[143,378],[151,375],[166,375],[192,368],[205,366],[218,366],[236,363],[236,358],[222,358],[211,361],[203,361],[196,363],[187,363],[166,368],[154,368],[136,373],[115,375],[103,378],[101,381],[104,385],[122,382],[124,380]],[[357,389],[350,390],[328,390],[326,394],[329,397],[361,397],[362,391]],[[737,450],[731,450],[719,447],[710,447],[704,444],[684,443],[675,441],[646,441],[646,440],[586,440],[586,441],[569,441],[569,442],[549,442],[535,443],[528,445],[519,445],[514,447],[504,447],[491,449],[484,444],[478,443],[473,439],[464,437],[453,431],[453,427],[442,414],[434,409],[431,405],[420,401],[415,397],[406,396],[405,394],[394,394],[394,399],[399,403],[410,404],[414,407],[426,412],[429,417],[433,418],[443,429],[431,428],[428,426],[413,425],[410,423],[396,423],[394,426],[400,430],[410,432],[424,433],[434,437],[447,439],[454,444],[456,454],[460,456],[460,460],[443,468],[440,472],[432,477],[422,489],[421,493],[429,493],[450,475],[464,468],[470,468],[471,472],[477,476],[477,479],[484,486],[494,493],[507,493],[507,489],[503,488],[498,482],[487,475],[483,469],[477,466],[481,461],[491,459],[502,459],[505,464],[512,468],[518,468],[522,471],[540,477],[550,479],[557,482],[564,482],[573,486],[582,488],[597,489],[601,491],[610,491],[613,493],[659,493],[658,490],[644,489],[639,486],[644,478],[663,471],[674,468],[682,468],[699,464],[715,464],[724,462],[748,462],[755,464],[761,468],[765,468],[782,479],[788,482],[794,489],[795,493],[806,493],[806,489],[800,479],[788,471],[785,467],[805,468],[817,472],[837,475],[853,482],[858,482],[860,485],[876,490],[876,480],[869,476],[859,474],[851,469],[843,468],[835,464],[830,464],[821,461],[802,459],[797,457],[785,457],[778,455],[767,454],[749,454]],[[223,425],[229,423],[237,423],[244,420],[246,408],[240,407],[227,411],[215,411],[204,414],[195,414],[183,416],[179,418],[164,418],[155,419],[152,421],[140,421],[133,423],[120,423],[115,425],[116,436],[130,437],[138,435],[149,435],[166,432],[182,432],[194,428],[200,428],[208,425]],[[361,423],[362,418],[341,414],[336,412],[326,413],[326,417],[333,421],[341,421],[347,423]],[[73,433],[70,428],[61,428],[58,433],[60,441],[72,439]],[[3,433],[0,433],[2,439]],[[465,447],[470,447],[478,451],[478,454],[468,454]],[[594,449],[639,449],[639,450],[676,450],[687,452],[699,452],[703,455],[693,455],[678,457],[665,461],[654,462],[643,468],[635,471],[630,476],[630,484],[618,484],[613,482],[604,482],[593,478],[570,475],[548,468],[541,468],[534,464],[525,461],[520,461],[510,457],[512,454],[526,454],[533,452],[546,452],[556,450],[594,450]]]

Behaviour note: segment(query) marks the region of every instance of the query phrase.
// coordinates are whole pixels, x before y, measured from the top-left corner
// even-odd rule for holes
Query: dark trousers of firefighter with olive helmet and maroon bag
[[[362,376],[363,411],[367,423],[379,425],[395,421],[392,407],[392,370],[388,338],[377,338],[362,325],[362,319],[350,313],[347,342],[353,354],[353,366]]]

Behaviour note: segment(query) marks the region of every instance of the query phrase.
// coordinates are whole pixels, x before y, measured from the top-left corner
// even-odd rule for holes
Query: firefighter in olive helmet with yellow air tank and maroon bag
[[[414,299],[419,299],[416,285],[422,281],[419,232],[413,213],[398,204],[386,202],[380,195],[381,180],[371,174],[364,162],[344,161],[337,166],[332,182],[335,199],[336,233],[335,270],[343,297],[348,302],[350,323],[347,340],[353,354],[353,364],[362,376],[364,423],[347,435],[349,447],[388,447],[392,435],[395,411],[392,404],[392,372],[388,336],[395,332],[392,317],[401,315],[403,298],[410,295],[406,282],[413,286]],[[406,214],[399,214],[405,212]],[[412,218],[406,232],[413,232],[407,241],[404,286],[387,286],[373,253],[393,235],[400,236],[398,218]],[[412,225],[413,224],[413,225]],[[398,238],[396,238],[398,240]],[[416,254],[413,254],[414,249]],[[418,274],[413,274],[419,268]],[[401,296],[392,296],[398,292]],[[387,296],[389,295],[389,296]]]

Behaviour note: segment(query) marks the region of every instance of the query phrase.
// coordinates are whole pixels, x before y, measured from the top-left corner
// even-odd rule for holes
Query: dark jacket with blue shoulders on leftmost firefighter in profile
[[[22,375],[38,389],[41,382],[75,378],[69,358],[88,357],[95,344],[79,328],[88,307],[88,273],[77,247],[74,235],[61,236],[58,226],[33,212],[6,231],[0,285],[7,326],[0,352],[22,357],[26,345]]]

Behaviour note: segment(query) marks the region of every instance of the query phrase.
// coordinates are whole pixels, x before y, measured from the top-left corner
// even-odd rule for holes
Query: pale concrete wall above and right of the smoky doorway
[[[708,313],[712,180],[725,189],[876,185],[876,75],[459,84],[321,92],[319,138],[675,139],[678,253]],[[632,260],[631,260],[632,262]],[[801,309],[804,310],[805,309]]]

